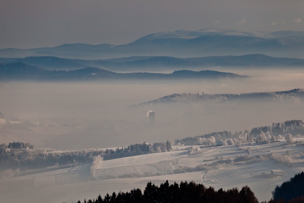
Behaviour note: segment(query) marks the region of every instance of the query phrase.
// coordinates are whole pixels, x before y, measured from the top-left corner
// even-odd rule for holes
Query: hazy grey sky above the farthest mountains
[[[1,0],[0,48],[125,44],[178,29],[304,30],[303,0]]]

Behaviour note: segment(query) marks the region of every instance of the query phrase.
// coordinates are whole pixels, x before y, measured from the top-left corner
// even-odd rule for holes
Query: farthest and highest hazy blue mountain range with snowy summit
[[[266,54],[304,58],[304,31],[250,32],[227,27],[175,30],[149,34],[129,44],[63,44],[33,49],[7,48],[0,57],[55,56],[107,59],[130,56],[201,57]]]

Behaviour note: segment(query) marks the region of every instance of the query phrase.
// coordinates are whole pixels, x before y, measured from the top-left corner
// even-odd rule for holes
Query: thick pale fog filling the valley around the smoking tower
[[[2,115],[38,125],[0,128],[0,142],[30,142],[35,147],[55,149],[106,148],[302,119],[304,108],[300,102],[130,107],[172,93],[249,93],[304,87],[304,74],[299,70],[229,71],[253,77],[168,82],[0,82]],[[147,110],[155,112],[153,125],[145,120]]]

